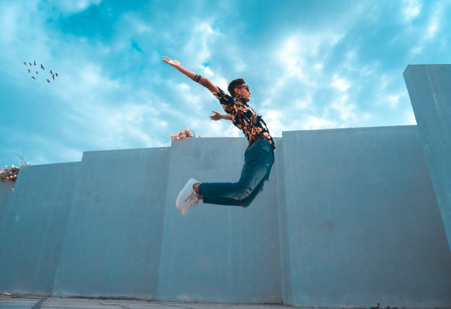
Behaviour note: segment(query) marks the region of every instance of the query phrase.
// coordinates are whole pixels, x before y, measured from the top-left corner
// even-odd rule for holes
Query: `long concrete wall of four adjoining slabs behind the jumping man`
[[[175,199],[236,182],[247,141],[90,151],[21,170],[0,290],[328,308],[449,308],[451,252],[416,126],[283,132],[251,206]]]

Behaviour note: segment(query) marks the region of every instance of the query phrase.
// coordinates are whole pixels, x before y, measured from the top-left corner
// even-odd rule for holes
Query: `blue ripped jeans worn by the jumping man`
[[[259,137],[245,152],[245,165],[239,182],[202,182],[198,188],[199,195],[204,196],[204,203],[246,208],[263,191],[273,163],[273,147],[267,139]]]

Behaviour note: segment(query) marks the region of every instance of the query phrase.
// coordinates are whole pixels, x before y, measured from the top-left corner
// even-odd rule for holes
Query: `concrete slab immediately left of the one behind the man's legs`
[[[53,296],[156,298],[169,157],[83,153]]]

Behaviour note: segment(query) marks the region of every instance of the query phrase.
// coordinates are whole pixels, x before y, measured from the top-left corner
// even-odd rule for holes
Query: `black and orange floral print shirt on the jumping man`
[[[257,115],[257,113],[255,113],[254,110],[247,105],[246,101],[233,98],[224,93],[221,88],[218,87],[218,89],[219,92],[213,92],[214,96],[216,96],[219,100],[221,106],[224,108],[224,111],[230,115],[233,125],[242,130],[245,134],[245,137],[249,141],[249,146],[251,146],[254,141],[258,141],[258,134],[261,133],[266,139],[268,139],[269,144],[271,144],[273,149],[276,149],[276,144],[269,134],[269,130],[266,127],[266,123],[263,118]],[[247,149],[249,146],[247,146]]]

